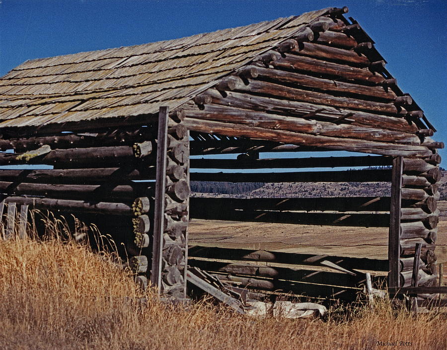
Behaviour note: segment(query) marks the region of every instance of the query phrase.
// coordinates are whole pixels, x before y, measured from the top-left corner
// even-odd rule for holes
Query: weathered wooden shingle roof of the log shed
[[[0,128],[174,109],[330,8],[213,33],[27,61],[0,78]]]

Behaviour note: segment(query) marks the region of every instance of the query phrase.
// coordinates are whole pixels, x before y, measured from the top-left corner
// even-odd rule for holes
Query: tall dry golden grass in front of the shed
[[[386,302],[325,320],[250,318],[211,300],[186,310],[139,291],[113,256],[61,239],[0,241],[0,349],[445,349],[446,316]],[[147,304],[136,302],[147,297]]]

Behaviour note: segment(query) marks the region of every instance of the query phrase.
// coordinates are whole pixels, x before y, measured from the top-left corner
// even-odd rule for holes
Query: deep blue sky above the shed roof
[[[0,0],[0,76],[35,58],[143,44],[348,6],[447,143],[446,0]],[[447,167],[447,150],[440,150]]]

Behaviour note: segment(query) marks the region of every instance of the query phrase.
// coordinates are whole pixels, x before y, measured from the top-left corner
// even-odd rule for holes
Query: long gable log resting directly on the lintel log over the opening
[[[344,137],[379,142],[395,142],[419,145],[419,138],[414,134],[376,129],[351,124],[334,124],[325,121],[308,120],[298,117],[244,111],[217,105],[207,105],[203,110],[186,109],[188,118],[207,121],[231,122],[265,129],[291,131],[328,137]]]

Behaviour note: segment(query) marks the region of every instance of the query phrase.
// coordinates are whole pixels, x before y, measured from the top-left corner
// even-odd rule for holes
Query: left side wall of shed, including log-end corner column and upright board
[[[16,219],[17,210],[49,210],[67,221],[73,214],[101,234],[110,234],[142,287],[156,274],[159,280],[152,284],[160,293],[184,298],[189,134],[181,115],[161,117],[161,134],[156,133],[158,122],[99,133],[0,140],[2,150],[14,150],[0,153],[1,165],[34,165],[0,169],[0,215],[4,211],[8,216],[4,236],[21,232],[23,215]],[[53,169],[35,169],[40,165]],[[40,222],[37,226],[39,232],[45,230]],[[154,249],[159,249],[156,263]]]

